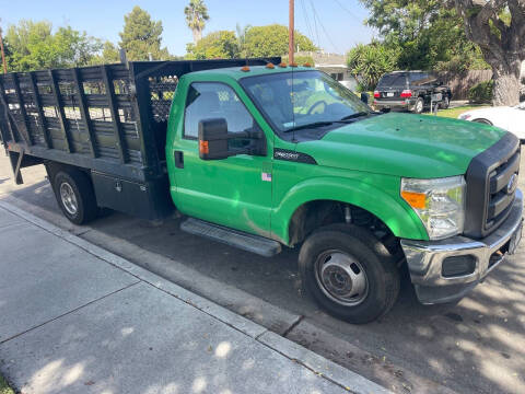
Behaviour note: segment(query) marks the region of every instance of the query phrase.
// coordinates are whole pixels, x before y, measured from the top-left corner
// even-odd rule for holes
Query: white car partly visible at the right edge
[[[458,119],[497,126],[525,142],[525,102],[514,107],[491,107],[463,113]]]

